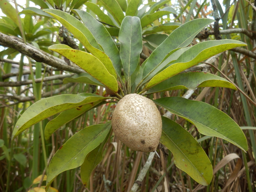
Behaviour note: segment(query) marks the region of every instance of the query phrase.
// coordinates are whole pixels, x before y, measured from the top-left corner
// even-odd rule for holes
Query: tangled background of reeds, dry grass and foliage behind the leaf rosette
[[[2,1],[4,2],[4,1]],[[0,3],[2,11],[8,17],[2,17],[0,20],[0,32],[14,36],[19,41],[30,43],[45,55],[53,56],[55,60],[66,63],[62,57],[48,50],[48,46],[61,43],[63,38],[59,35],[60,23],[56,20],[40,16],[22,16],[21,22],[24,23],[24,31],[27,34],[26,39],[22,30],[18,12],[32,5],[28,1],[25,5],[9,2],[13,6],[12,12],[5,12],[3,4]],[[14,3],[15,3],[14,2]],[[43,2],[43,1],[40,1]],[[71,3],[71,1],[66,1]],[[75,1],[74,1],[75,2]],[[85,1],[76,1],[76,8],[85,9]],[[96,3],[96,1],[92,1]],[[150,1],[149,1],[150,2]],[[144,4],[146,1],[144,1]],[[244,93],[226,88],[197,88],[187,92],[192,100],[204,101],[219,108],[227,113],[236,123],[242,127],[249,126],[252,129],[245,128],[244,133],[248,139],[249,150],[243,156],[242,151],[236,146],[219,138],[203,136],[197,132],[196,128],[184,121],[178,116],[171,118],[188,130],[206,151],[211,163],[213,164],[214,176],[211,185],[205,187],[198,185],[185,172],[177,169],[173,162],[173,156],[164,146],[160,145],[159,150],[161,158],[154,158],[152,166],[147,172],[146,178],[141,183],[141,191],[255,191],[256,190],[256,167],[255,167],[255,107],[252,102],[255,99],[255,4],[253,1],[215,1],[216,7],[208,1],[172,1],[169,2],[177,12],[170,16],[154,21],[153,26],[158,26],[167,22],[178,22],[183,24],[188,20],[195,18],[214,18],[213,12],[216,9],[220,15],[220,34],[222,39],[236,39],[247,43],[247,47],[227,51],[216,57],[207,60],[207,63],[215,67],[209,67],[204,63],[199,63],[196,70],[209,70],[212,74],[223,77],[228,76]],[[42,8],[44,4],[41,4]],[[93,14],[90,10],[89,13]],[[150,27],[150,26],[148,26]],[[170,30],[164,31],[164,34],[170,34]],[[209,28],[208,38],[220,38],[213,30]],[[215,36],[214,36],[215,34]],[[208,39],[208,40],[209,40]],[[207,39],[206,39],[207,40]],[[192,44],[196,44],[204,39],[194,39]],[[80,118],[64,125],[49,140],[41,137],[40,127],[44,129],[45,125],[55,118],[45,119],[31,127],[28,131],[22,133],[17,139],[11,140],[12,130],[20,114],[36,100],[44,97],[63,93],[82,93],[90,92],[106,96],[103,87],[92,86],[89,84],[68,83],[63,84],[65,77],[73,74],[67,70],[52,68],[45,65],[44,62],[34,62],[6,44],[1,43],[0,62],[0,191],[28,191],[29,188],[45,185],[41,178],[45,174],[45,164],[49,163],[52,155],[62,146],[74,133],[80,131],[86,126],[107,122],[111,119],[114,110],[114,104],[105,104],[85,113]],[[82,45],[76,42],[74,46],[82,49]],[[117,42],[118,43],[118,42]],[[141,62],[149,56],[150,46],[145,44],[141,54]],[[51,56],[51,57],[52,57]],[[59,57],[59,58],[58,58]],[[14,61],[18,58],[19,61]],[[20,58],[20,59],[19,59]],[[70,63],[70,69],[74,73],[79,73],[79,69]],[[218,71],[217,69],[221,71]],[[16,72],[15,72],[16,69]],[[35,76],[31,76],[30,71]],[[70,71],[70,70],[69,70]],[[27,80],[28,79],[28,80]],[[34,91],[32,89],[34,87]],[[154,93],[150,97],[153,99],[165,96],[183,96],[186,90],[168,91],[164,93]],[[166,111],[162,108],[162,115]],[[168,113],[166,114],[166,116]],[[209,117],[211,118],[211,117]],[[48,159],[43,157],[43,148]],[[136,180],[141,167],[145,164],[148,154],[136,152],[124,146],[114,134],[111,134],[107,144],[104,147],[103,161],[93,171],[90,186],[84,188],[81,182],[79,168],[69,170],[60,174],[54,181],[53,187],[59,191],[130,191],[133,181]],[[38,178],[39,176],[39,178]],[[38,178],[37,183],[34,179]],[[106,178],[106,179],[104,179]],[[234,178],[228,182],[229,178]],[[107,185],[106,180],[111,181]],[[251,186],[251,188],[249,187]]]

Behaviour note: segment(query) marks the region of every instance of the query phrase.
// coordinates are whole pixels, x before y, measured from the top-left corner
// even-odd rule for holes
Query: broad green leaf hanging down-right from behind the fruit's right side
[[[160,142],[173,154],[174,164],[201,185],[212,180],[212,164],[200,144],[179,124],[162,116]]]

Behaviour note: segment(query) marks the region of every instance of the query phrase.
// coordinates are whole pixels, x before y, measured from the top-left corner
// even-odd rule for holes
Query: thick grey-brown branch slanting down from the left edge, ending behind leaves
[[[58,68],[63,71],[69,71],[72,73],[84,73],[83,69],[74,68],[74,67],[63,64],[60,61],[56,61],[56,60],[46,56],[42,52],[32,48],[31,46],[21,43],[15,39],[13,39],[11,36],[5,35],[1,32],[0,32],[0,42],[19,51],[20,53],[22,53],[24,55],[27,55],[28,57],[36,60],[37,62],[43,62],[47,65],[50,65],[54,68]]]

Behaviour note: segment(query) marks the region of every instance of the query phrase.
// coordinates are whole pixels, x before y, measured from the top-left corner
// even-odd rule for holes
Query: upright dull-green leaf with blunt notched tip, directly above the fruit
[[[131,16],[124,18],[119,32],[119,41],[124,72],[130,77],[137,68],[142,51],[140,18]]]

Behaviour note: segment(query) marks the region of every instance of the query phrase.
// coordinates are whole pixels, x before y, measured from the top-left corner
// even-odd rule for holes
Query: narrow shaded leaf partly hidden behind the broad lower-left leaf
[[[83,181],[84,186],[88,185],[93,169],[102,161],[102,149],[105,143],[108,141],[108,137],[110,133],[111,133],[111,129],[109,130],[105,140],[102,143],[100,143],[98,147],[96,147],[86,155],[84,159],[84,163],[81,165],[80,172],[81,172],[81,179]]]

